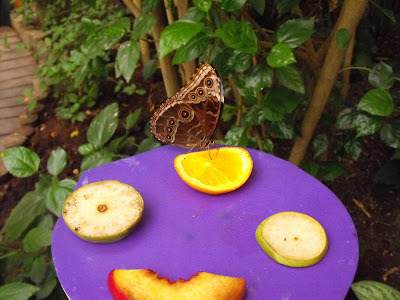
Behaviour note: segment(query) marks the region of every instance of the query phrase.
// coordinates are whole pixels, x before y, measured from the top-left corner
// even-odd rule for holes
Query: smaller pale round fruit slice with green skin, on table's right
[[[261,248],[275,261],[290,267],[308,267],[328,250],[324,228],[298,212],[281,212],[264,220],[256,230]]]

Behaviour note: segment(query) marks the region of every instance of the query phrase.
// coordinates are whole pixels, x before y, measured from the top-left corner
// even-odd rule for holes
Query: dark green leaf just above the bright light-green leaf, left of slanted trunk
[[[307,41],[314,31],[314,17],[310,19],[288,20],[279,26],[276,33],[278,43],[296,48]]]

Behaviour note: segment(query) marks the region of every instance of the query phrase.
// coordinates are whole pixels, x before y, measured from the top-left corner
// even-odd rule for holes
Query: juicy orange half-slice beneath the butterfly
[[[184,182],[207,194],[236,190],[247,181],[253,170],[249,152],[239,147],[182,154],[175,158],[174,165]]]

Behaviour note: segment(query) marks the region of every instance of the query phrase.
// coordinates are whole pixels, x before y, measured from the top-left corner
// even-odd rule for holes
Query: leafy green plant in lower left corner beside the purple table
[[[0,288],[0,299],[47,298],[57,286],[50,244],[55,219],[65,199],[73,191],[73,179],[58,179],[67,162],[61,149],[51,152],[48,173],[39,172],[40,158],[23,146],[2,152],[7,170],[16,177],[39,174],[35,189],[26,193],[8,217],[1,234],[0,261],[9,282]],[[11,275],[13,274],[13,275]],[[58,291],[63,295],[62,290]]]

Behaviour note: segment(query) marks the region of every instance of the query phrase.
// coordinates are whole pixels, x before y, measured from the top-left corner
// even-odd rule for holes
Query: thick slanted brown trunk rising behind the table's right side
[[[346,28],[350,35],[354,36],[358,23],[367,7],[367,3],[367,0],[345,0],[343,3],[342,10],[336,22],[337,26],[335,26],[335,30],[332,32],[332,38],[320,77],[304,115],[301,136],[296,139],[289,156],[289,161],[294,165],[299,166],[305,156],[343,62],[344,51],[338,47],[334,38],[337,30]]]

